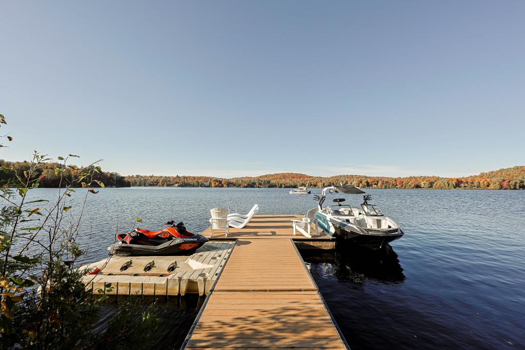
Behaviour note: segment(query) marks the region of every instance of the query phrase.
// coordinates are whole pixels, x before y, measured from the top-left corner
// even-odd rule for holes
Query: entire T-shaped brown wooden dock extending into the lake
[[[235,248],[183,348],[348,348],[293,242],[302,240],[292,234],[295,218],[256,215],[230,229]]]

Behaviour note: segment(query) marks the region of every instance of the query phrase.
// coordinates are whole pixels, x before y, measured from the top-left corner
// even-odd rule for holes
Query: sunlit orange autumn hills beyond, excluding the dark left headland
[[[525,166],[483,172],[463,178],[438,176],[409,176],[403,178],[337,175],[316,177],[299,173],[267,174],[257,177],[232,179],[202,176],[142,176],[125,177],[131,186],[178,186],[178,187],[298,187],[323,188],[331,184],[351,184],[361,188],[427,188],[427,189],[524,189]]]

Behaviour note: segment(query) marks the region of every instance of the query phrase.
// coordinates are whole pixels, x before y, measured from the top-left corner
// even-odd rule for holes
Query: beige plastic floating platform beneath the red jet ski
[[[234,246],[235,242],[206,242],[189,256],[111,255],[109,259],[83,266],[90,271],[100,269],[100,272],[85,275],[81,281],[94,295],[208,295]],[[124,265],[129,267],[123,270]],[[145,271],[148,265],[151,269]]]

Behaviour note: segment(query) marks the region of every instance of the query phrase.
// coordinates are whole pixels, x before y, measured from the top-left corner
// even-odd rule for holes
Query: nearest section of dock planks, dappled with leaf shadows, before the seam
[[[214,292],[186,348],[333,348],[344,343],[316,292]]]

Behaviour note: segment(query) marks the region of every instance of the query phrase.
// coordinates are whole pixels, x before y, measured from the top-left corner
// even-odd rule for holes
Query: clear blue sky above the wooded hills
[[[218,177],[525,163],[522,1],[3,1],[0,14],[6,160],[36,149]]]

